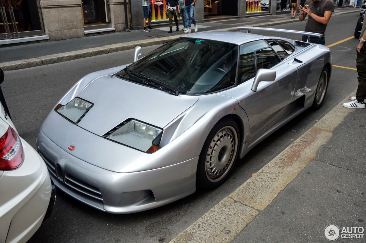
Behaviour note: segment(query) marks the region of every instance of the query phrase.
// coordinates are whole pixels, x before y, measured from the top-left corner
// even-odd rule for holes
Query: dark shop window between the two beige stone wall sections
[[[84,26],[109,24],[109,0],[82,0]]]

